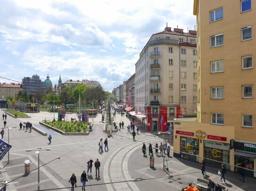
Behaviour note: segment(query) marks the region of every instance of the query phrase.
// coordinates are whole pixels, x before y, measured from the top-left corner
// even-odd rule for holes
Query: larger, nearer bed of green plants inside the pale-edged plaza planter
[[[68,132],[87,132],[87,125],[90,125],[90,122],[81,122],[81,126],[78,126],[78,122],[44,122],[47,125],[50,125],[51,127],[54,127],[58,130],[64,131],[66,133]]]

